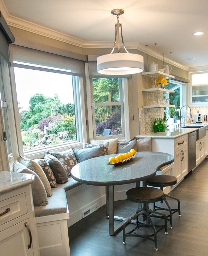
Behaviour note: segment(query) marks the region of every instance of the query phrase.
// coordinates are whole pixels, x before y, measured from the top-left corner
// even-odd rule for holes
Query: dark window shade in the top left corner
[[[0,11],[0,57],[2,57],[8,64],[10,64],[8,44],[14,41],[15,38]]]

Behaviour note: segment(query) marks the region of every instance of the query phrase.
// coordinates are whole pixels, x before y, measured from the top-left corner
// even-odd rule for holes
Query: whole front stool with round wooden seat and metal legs
[[[162,214],[161,212],[156,212],[154,210],[150,210],[148,209],[148,204],[149,203],[155,203],[161,200],[166,201],[163,191],[161,191],[158,188],[152,188],[152,187],[136,187],[136,188],[131,188],[127,191],[127,199],[135,202],[135,203],[142,203],[144,204],[144,207],[142,209],[138,209],[136,214],[131,216],[130,218],[127,218],[124,220],[124,224],[123,224],[123,244],[125,245],[125,239],[127,236],[138,236],[141,238],[146,238],[149,239],[151,241],[153,241],[155,243],[155,250],[157,251],[157,233],[162,230],[163,228],[165,228],[165,234],[168,234],[167,232],[167,217],[165,214]],[[154,214],[154,216],[150,215],[150,214]],[[155,214],[160,215],[159,217],[164,218],[164,225],[154,225],[153,221],[151,220],[152,217],[154,218],[158,218],[158,216],[155,216]],[[138,220],[138,216],[139,215],[145,215],[147,220],[149,221],[150,224],[147,223],[143,223],[143,222],[139,222]],[[125,233],[125,227],[126,225],[132,220],[136,218],[136,227],[133,228],[133,230],[131,230],[128,233]],[[139,234],[139,228],[140,227],[152,227],[154,233],[150,234],[150,235],[142,235]],[[154,239],[151,238],[152,236],[154,236]]]

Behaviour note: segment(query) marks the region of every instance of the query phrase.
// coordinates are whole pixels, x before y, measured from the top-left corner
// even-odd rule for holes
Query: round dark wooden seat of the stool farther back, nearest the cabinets
[[[171,175],[155,175],[147,180],[147,185],[153,187],[168,187],[177,183],[177,178]]]

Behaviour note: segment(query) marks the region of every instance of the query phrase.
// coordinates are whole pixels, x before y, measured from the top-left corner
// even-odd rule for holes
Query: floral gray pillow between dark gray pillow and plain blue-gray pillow
[[[75,157],[75,154],[73,153],[73,149],[68,149],[67,151],[63,151],[60,153],[54,153],[50,152],[51,155],[55,156],[58,158],[58,160],[61,162],[63,167],[65,168],[67,172],[67,176],[71,174],[71,169],[75,164],[77,164],[77,160]]]

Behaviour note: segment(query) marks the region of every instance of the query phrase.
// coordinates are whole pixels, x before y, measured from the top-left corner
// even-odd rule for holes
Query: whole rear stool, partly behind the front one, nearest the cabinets
[[[151,187],[160,187],[160,189],[163,191],[163,187],[170,187],[173,186],[177,183],[177,178],[175,176],[171,176],[171,175],[155,175],[154,177],[149,178],[148,180],[146,180],[146,184],[148,186]],[[177,201],[178,204],[178,208],[177,209],[172,209],[170,208],[170,205],[167,203],[167,201],[165,202],[167,205],[167,208],[163,208],[163,207],[158,207],[155,205],[154,203],[154,211],[158,211],[158,210],[165,210],[165,211],[169,211],[169,215],[166,215],[166,217],[170,217],[169,219],[167,219],[168,221],[170,221],[170,225],[171,228],[173,228],[172,225],[172,215],[175,212],[179,212],[179,217],[181,217],[181,204],[179,199],[177,199],[176,197],[173,197],[171,195],[167,195],[164,194],[164,197],[169,197],[171,199],[174,199]],[[161,203],[163,203],[163,201],[161,200]]]

